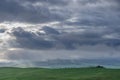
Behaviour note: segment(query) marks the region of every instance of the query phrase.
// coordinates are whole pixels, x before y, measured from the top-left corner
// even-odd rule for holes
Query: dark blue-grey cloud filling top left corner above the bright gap
[[[45,2],[42,0],[38,0],[38,1],[40,1],[41,3]],[[36,2],[38,1],[36,0]],[[56,1],[56,3],[57,2],[59,3],[60,1]],[[0,21],[1,22],[17,21],[17,22],[28,22],[28,23],[44,23],[44,22],[51,22],[51,21],[61,21],[68,18],[68,16],[61,16],[55,12],[52,13],[48,8],[49,6],[47,5],[35,7],[32,5],[32,3],[30,3],[29,5],[25,3],[26,3],[26,0],[0,1],[0,17],[1,17]],[[25,4],[25,6],[23,6],[23,4]]]

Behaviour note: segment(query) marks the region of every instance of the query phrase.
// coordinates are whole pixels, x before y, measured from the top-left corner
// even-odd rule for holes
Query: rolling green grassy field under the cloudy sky
[[[119,80],[119,69],[0,68],[0,80]]]

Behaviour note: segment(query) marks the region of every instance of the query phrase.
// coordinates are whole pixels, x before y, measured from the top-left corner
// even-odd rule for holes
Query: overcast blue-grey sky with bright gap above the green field
[[[119,0],[0,0],[0,66],[119,58]]]

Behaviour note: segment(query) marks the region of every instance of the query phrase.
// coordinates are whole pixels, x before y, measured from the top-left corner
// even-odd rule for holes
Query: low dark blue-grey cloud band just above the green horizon
[[[88,67],[90,65],[103,65],[104,67],[113,67],[112,65],[114,65],[114,67],[116,66],[120,66],[119,63],[119,59],[74,59],[74,60],[69,60],[69,59],[56,59],[56,60],[48,60],[48,61],[34,61],[33,64],[36,66],[46,66],[46,67]],[[85,65],[86,63],[86,65]],[[116,65],[117,64],[117,65]],[[64,65],[64,66],[62,66]]]

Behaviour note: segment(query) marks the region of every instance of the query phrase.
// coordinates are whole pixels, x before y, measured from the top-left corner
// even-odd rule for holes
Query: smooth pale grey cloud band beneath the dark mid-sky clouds
[[[86,47],[86,48],[84,48]],[[99,52],[98,52],[99,51]],[[111,54],[111,52],[113,52]],[[20,54],[21,53],[21,54]],[[65,54],[66,53],[66,54]],[[84,53],[84,54],[83,54]],[[17,49],[6,51],[4,54],[9,60],[28,60],[28,61],[47,61],[55,59],[99,59],[99,58],[117,58],[120,56],[114,48],[96,45],[96,46],[81,46],[80,50],[29,50]]]

